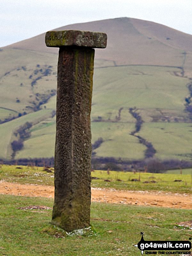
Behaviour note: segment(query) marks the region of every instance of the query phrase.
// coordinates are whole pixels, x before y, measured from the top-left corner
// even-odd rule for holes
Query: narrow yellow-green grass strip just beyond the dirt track
[[[2,165],[0,168],[0,180],[17,182],[20,184],[40,184],[54,186],[54,171],[47,173],[43,167],[25,167],[17,169],[17,166]],[[191,169],[189,169],[190,171]],[[152,174],[131,173],[123,171],[94,171],[91,172],[91,186],[93,188],[114,188],[132,191],[166,191],[172,193],[192,194],[191,174]],[[140,181],[131,181],[138,179]],[[104,181],[110,180],[110,182]],[[121,181],[117,181],[121,180]],[[182,180],[175,182],[175,180]],[[148,181],[149,183],[143,183]],[[152,183],[151,181],[156,181]]]

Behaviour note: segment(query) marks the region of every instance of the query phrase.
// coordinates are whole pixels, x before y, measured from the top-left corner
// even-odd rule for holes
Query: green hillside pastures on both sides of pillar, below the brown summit
[[[7,51],[5,49],[0,54],[5,57]],[[56,89],[57,84],[57,56],[55,54],[41,53],[41,59],[39,59],[31,51],[18,49],[9,51],[18,62],[9,66],[7,63],[10,63],[10,60],[7,59],[8,62],[1,71],[0,119],[2,120],[17,113],[23,113],[26,106],[34,107],[40,101],[40,96],[37,94],[49,95],[51,90]],[[110,61],[110,63],[105,63],[106,61],[103,60],[96,62],[91,111],[92,143],[99,137],[102,137],[104,142],[94,150],[95,156],[121,157],[130,160],[144,158],[146,147],[139,143],[136,137],[130,135],[135,129],[135,119],[129,113],[129,108],[135,106],[145,121],[138,135],[153,144],[157,150],[155,157],[190,160],[192,150],[190,124],[150,123],[162,113],[172,118],[171,120],[175,117],[187,118],[187,113],[183,110],[185,97],[189,95],[186,86],[189,79],[175,75],[181,70],[172,67],[139,65],[118,67],[111,66]],[[51,73],[44,75],[44,71],[50,64],[52,65]],[[109,67],[101,68],[105,64]],[[31,75],[32,78],[30,78]],[[31,86],[31,82],[39,76],[41,79]],[[2,109],[2,107],[10,110]],[[56,96],[52,96],[41,108],[46,108],[47,111],[55,110]],[[32,111],[30,108],[27,109],[28,112]],[[121,109],[120,116],[119,109]],[[43,113],[42,110],[37,115],[41,113]],[[30,115],[28,117],[27,114],[22,118],[30,119]],[[98,119],[105,122],[93,122]],[[14,140],[12,134],[17,122],[22,123],[23,119],[0,125],[1,158],[10,158],[10,144]],[[32,136],[24,141],[24,148],[16,154],[16,159],[54,156],[55,119],[44,118],[44,123],[32,127]]]

